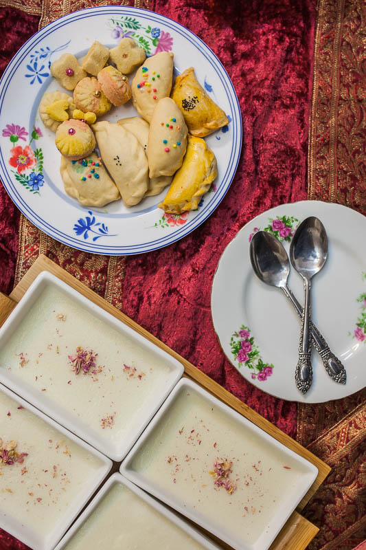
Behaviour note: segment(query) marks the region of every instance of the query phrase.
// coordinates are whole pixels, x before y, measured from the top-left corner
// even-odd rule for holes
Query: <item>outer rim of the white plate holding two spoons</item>
[[[213,295],[214,295],[214,281],[215,281],[215,278],[216,278],[216,274],[218,272],[218,269],[222,263],[222,257],[224,256],[227,248],[229,248],[229,246],[231,246],[233,244],[233,241],[235,241],[235,239],[239,236],[239,234],[241,232],[243,232],[245,229],[248,228],[249,224],[253,224],[255,223],[255,221],[262,217],[263,214],[270,214],[271,215],[271,212],[273,212],[274,210],[277,210],[277,208],[282,208],[284,206],[288,207],[288,206],[299,206],[301,208],[301,206],[310,206],[313,204],[313,203],[316,203],[316,204],[321,204],[323,206],[325,206],[325,208],[335,208],[335,209],[341,209],[343,210],[344,208],[346,208],[347,210],[350,210],[355,216],[358,216],[359,219],[363,219],[363,223],[365,223],[366,225],[366,217],[361,214],[361,212],[358,212],[358,210],[354,210],[353,208],[350,208],[349,206],[345,206],[343,204],[339,204],[339,203],[334,203],[334,202],[326,202],[326,201],[318,201],[318,200],[313,200],[313,199],[304,199],[304,200],[301,200],[301,201],[294,201],[294,202],[288,202],[288,203],[281,203],[281,204],[278,204],[277,206],[273,206],[271,208],[268,208],[268,210],[263,210],[263,212],[260,212],[260,214],[256,214],[255,217],[249,219],[249,221],[247,221],[247,223],[245,223],[242,228],[240,228],[240,230],[238,230],[238,232],[233,236],[233,238],[231,239],[231,241],[229,241],[229,243],[227,243],[227,245],[225,246],[225,249],[222,251],[222,254],[220,255],[220,259],[218,260],[218,263],[216,265],[216,269],[215,269],[215,272],[214,272],[214,276],[212,278],[212,283],[211,283],[211,295],[210,295],[210,313],[211,313],[211,322],[212,322],[212,326],[214,328],[214,333],[216,335],[216,338],[217,338],[217,341],[218,341],[218,344],[220,345],[220,349],[222,351],[222,353],[224,353],[225,355],[225,358],[227,358],[227,360],[229,361],[229,363],[233,366],[234,369],[236,369],[236,371],[244,378],[244,380],[246,380],[247,382],[249,382],[251,384],[251,386],[253,386],[254,388],[256,389],[259,389],[261,390],[262,392],[266,393],[267,395],[271,395],[271,397],[275,397],[276,399],[283,399],[284,401],[287,401],[288,403],[296,403],[296,404],[308,404],[308,405],[314,405],[314,404],[321,404],[321,403],[328,403],[329,401],[338,401],[339,399],[345,399],[345,397],[350,397],[350,395],[354,395],[355,393],[357,393],[358,391],[361,391],[362,388],[358,388],[356,391],[352,391],[352,393],[348,393],[347,395],[344,395],[343,397],[336,397],[336,398],[331,398],[331,399],[324,399],[323,401],[313,401],[313,400],[308,400],[308,401],[299,401],[298,399],[288,399],[286,397],[280,397],[279,395],[275,395],[274,393],[271,393],[270,391],[266,391],[265,388],[262,388],[260,386],[257,386],[256,384],[253,384],[253,382],[251,382],[251,380],[249,379],[249,377],[246,377],[244,375],[244,371],[241,371],[239,369],[239,367],[233,362],[233,360],[231,360],[231,357],[229,355],[227,355],[226,351],[225,351],[225,348],[224,346],[222,345],[221,343],[221,340],[220,340],[220,337],[218,336],[218,331],[216,329],[216,325],[215,325],[215,322],[214,322],[214,314],[213,314],[213,307],[212,307],[212,304],[213,304]]]

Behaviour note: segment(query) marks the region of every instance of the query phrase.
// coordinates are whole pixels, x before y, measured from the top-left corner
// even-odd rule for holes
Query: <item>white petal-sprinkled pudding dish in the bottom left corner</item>
[[[0,527],[53,550],[112,462],[0,384]]]

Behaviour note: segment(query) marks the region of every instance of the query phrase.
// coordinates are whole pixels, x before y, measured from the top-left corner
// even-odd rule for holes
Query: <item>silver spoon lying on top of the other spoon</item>
[[[304,280],[304,309],[301,317],[299,360],[295,371],[297,388],[306,393],[312,383],[311,366],[311,280],[328,258],[328,236],[323,223],[310,216],[300,223],[290,244],[290,260]]]

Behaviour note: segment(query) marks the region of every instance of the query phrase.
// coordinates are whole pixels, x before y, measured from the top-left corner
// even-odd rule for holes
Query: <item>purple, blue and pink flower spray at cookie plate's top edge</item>
[[[142,25],[135,17],[120,17],[108,19],[108,27],[111,28],[112,38],[120,41],[125,38],[133,39],[142,47],[147,56],[155,56],[159,52],[171,52],[173,39],[169,32],[159,27],[147,27]]]

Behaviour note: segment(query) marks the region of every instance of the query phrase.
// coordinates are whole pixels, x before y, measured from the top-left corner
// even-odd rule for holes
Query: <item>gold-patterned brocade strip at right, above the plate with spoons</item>
[[[365,27],[363,0],[319,0],[308,198],[366,214]]]

